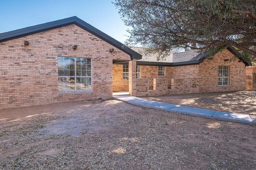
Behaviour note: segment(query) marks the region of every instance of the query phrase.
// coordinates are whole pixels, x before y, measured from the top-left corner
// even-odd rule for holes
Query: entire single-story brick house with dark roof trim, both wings
[[[0,109],[85,99],[113,91],[164,95],[245,88],[244,57],[228,46],[142,58],[77,17],[0,34]],[[137,61],[138,60],[138,61]]]

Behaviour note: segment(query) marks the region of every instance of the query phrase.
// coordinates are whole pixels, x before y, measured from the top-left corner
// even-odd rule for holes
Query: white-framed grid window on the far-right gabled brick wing
[[[218,66],[218,85],[229,85],[229,66]]]

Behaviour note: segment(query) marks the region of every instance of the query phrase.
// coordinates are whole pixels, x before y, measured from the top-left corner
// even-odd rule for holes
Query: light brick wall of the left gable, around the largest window
[[[24,45],[25,40],[29,45]],[[57,56],[91,58],[92,90],[58,92]],[[0,109],[110,98],[113,59],[130,60],[130,55],[75,25],[2,42]]]

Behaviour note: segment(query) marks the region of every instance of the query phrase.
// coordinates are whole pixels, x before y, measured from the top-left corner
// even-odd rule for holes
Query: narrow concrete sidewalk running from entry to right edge
[[[113,98],[120,100],[120,101],[127,102],[127,103],[131,103],[134,105],[148,107],[148,108],[154,108],[154,109],[159,109],[159,110],[164,110],[164,111],[183,113],[183,114],[188,114],[188,115],[195,115],[195,116],[219,119],[219,120],[224,120],[224,121],[233,121],[233,122],[249,123],[249,124],[256,123],[255,115],[220,112],[220,111],[199,109],[199,108],[194,108],[194,107],[172,105],[172,104],[168,104],[168,103],[152,101],[152,100],[148,100],[148,99],[142,99],[139,97],[133,97],[133,96],[129,96],[129,95],[116,95]]]

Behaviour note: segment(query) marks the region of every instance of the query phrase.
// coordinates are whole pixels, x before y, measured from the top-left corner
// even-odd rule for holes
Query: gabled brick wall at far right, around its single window
[[[228,61],[224,61],[228,60]],[[229,85],[218,85],[218,66],[229,66]],[[245,64],[227,49],[205,59],[199,66],[200,92],[239,91],[245,89]]]

